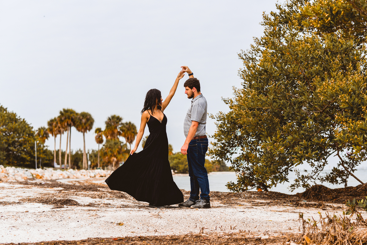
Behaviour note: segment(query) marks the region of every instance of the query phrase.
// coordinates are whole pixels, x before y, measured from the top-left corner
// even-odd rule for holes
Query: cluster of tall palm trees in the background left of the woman
[[[69,165],[71,167],[71,127],[81,133],[83,133],[83,163],[82,168],[87,169],[87,151],[85,134],[92,130],[94,125],[94,119],[88,112],[76,112],[73,109],[62,109],[59,115],[47,122],[48,128],[40,128],[37,130],[37,134],[44,135],[44,138],[48,138],[47,134],[54,136],[54,161],[56,162],[56,137],[60,136],[60,149],[61,149],[61,136],[66,133],[66,154],[64,165],[67,163],[69,155]],[[129,150],[127,144],[130,145],[135,140],[137,135],[137,129],[132,122],[123,122],[123,118],[118,115],[112,115],[108,117],[105,122],[105,129],[102,130],[100,127],[95,129],[95,141],[98,144],[98,164],[97,167],[112,165],[115,169],[116,163],[126,160],[128,157]],[[106,138],[105,144],[103,144]],[[120,141],[120,137],[123,137],[126,143]],[[101,148],[102,162],[99,159],[100,149],[99,145],[103,144]],[[69,152],[68,152],[69,147]],[[59,164],[61,165],[61,151],[59,151]]]

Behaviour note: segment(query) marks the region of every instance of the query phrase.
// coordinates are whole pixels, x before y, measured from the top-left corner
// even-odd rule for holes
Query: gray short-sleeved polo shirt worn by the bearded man
[[[207,102],[202,94],[199,94],[191,101],[191,107],[186,113],[185,121],[183,122],[183,133],[185,137],[189,134],[189,129],[191,126],[191,121],[199,122],[197,127],[196,136],[206,135],[206,116],[207,116]]]

